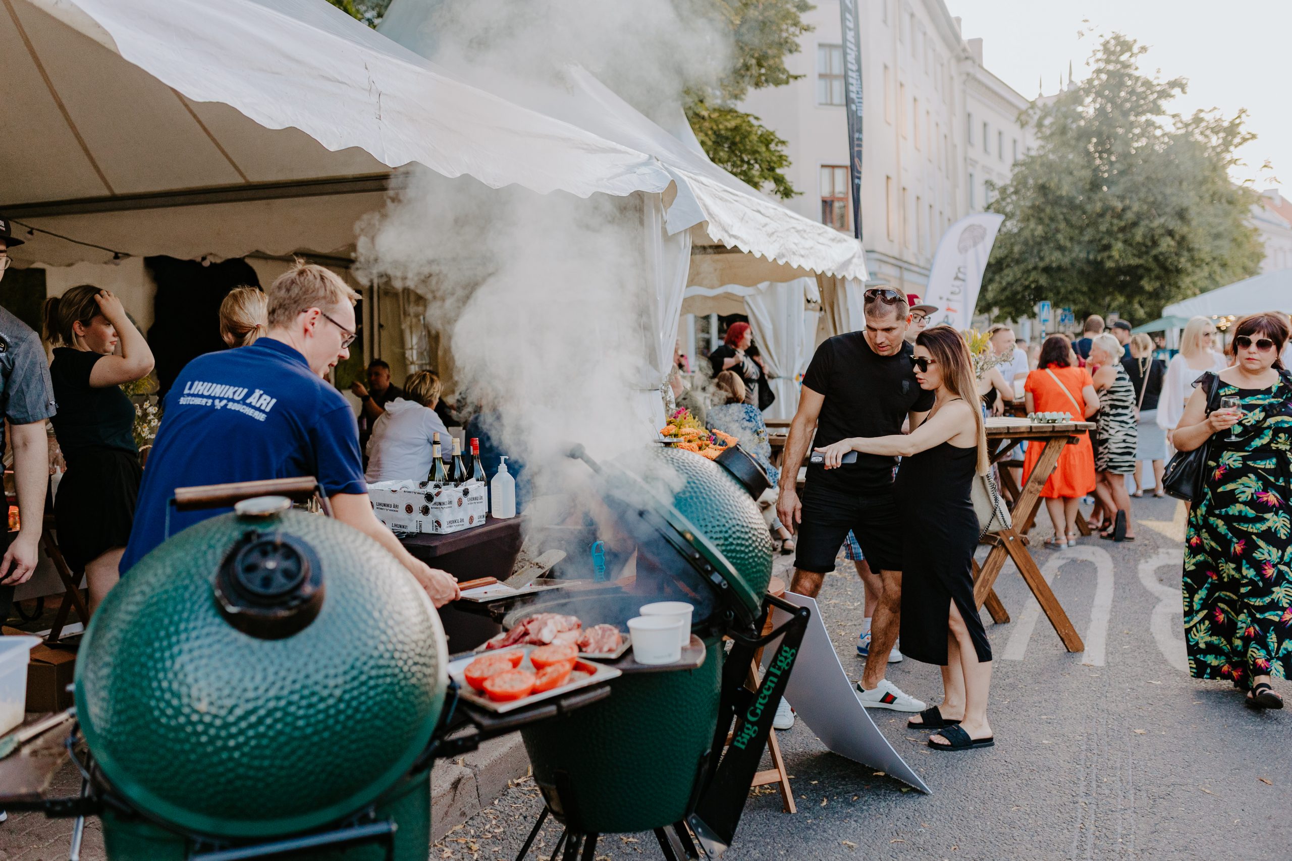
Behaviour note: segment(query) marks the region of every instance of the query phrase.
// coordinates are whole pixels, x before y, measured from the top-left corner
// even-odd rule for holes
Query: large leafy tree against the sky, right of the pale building
[[[1168,114],[1187,81],[1142,75],[1146,50],[1106,37],[1085,81],[1026,116],[1037,146],[990,207],[1005,222],[981,310],[1031,316],[1050,299],[1078,319],[1118,311],[1143,323],[1258,270],[1256,194],[1227,174],[1255,137],[1244,112]]]

